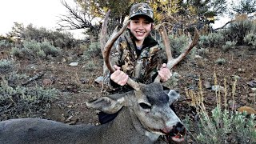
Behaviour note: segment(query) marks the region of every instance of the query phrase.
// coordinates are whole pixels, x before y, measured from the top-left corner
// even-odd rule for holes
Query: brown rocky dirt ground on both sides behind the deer
[[[218,58],[225,58],[226,62],[217,64]],[[70,66],[70,62],[78,62],[78,66]],[[97,110],[91,110],[86,107],[86,101],[100,97],[101,85],[94,82],[94,79],[102,75],[102,59],[92,58],[94,69],[89,69],[89,61],[84,61],[81,55],[73,53],[72,58],[53,58],[47,62],[30,63],[21,62],[20,70],[30,74],[42,72],[44,75],[37,80],[38,85],[46,78],[53,80],[53,83],[47,86],[60,90],[61,94],[58,100],[52,103],[46,118],[58,122],[75,123],[97,123]],[[255,93],[253,86],[248,82],[256,81],[256,49],[244,46],[237,46],[233,50],[223,52],[220,48],[207,49],[202,58],[186,59],[175,66],[172,72],[179,74],[178,85],[170,87],[179,90],[182,98],[174,104],[177,114],[180,118],[186,115],[194,116],[194,110],[190,106],[190,99],[186,98],[185,89],[197,90],[198,79],[202,83],[210,82],[214,85],[214,72],[217,74],[218,84],[223,86],[226,78],[228,91],[231,92],[234,84],[234,78],[238,78],[236,83],[235,105],[251,106],[256,109]],[[34,69],[28,69],[33,67]],[[33,83],[32,83],[33,84]],[[212,110],[216,106],[216,96],[214,90],[206,89],[202,86],[205,96],[205,106]],[[231,93],[227,98],[231,100]],[[229,101],[230,103],[231,101]],[[229,105],[231,108],[231,105]]]

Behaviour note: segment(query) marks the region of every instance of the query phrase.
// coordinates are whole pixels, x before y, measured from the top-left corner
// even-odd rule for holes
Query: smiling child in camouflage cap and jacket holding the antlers
[[[171,73],[166,68],[166,63],[162,64],[162,49],[158,42],[150,36],[154,29],[154,16],[152,8],[146,3],[137,3],[130,8],[127,30],[118,38],[116,49],[118,53],[113,53],[114,58],[111,63],[114,65],[114,73],[107,74],[104,78],[105,86],[110,94],[123,93],[132,90],[126,85],[128,76],[136,82],[149,84],[154,82],[154,78],[159,74],[162,82],[166,82]],[[98,114],[99,122],[106,123],[113,120],[116,114]]]

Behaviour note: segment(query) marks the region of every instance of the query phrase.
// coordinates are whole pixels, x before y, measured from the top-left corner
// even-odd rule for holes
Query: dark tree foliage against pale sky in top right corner
[[[251,14],[256,11],[256,0],[235,0],[231,7],[230,14]]]

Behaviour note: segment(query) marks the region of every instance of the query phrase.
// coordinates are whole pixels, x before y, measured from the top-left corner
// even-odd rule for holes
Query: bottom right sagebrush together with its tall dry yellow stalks
[[[214,73],[214,85],[217,83],[217,76]],[[234,79],[230,94],[228,94],[229,89],[227,89],[226,78],[224,79],[224,92],[220,93],[215,90],[215,96],[213,95],[216,98],[216,107],[213,110],[209,110],[209,107],[204,105],[206,98],[204,98],[205,92],[202,91],[201,78],[198,82],[198,91],[186,90],[186,97],[191,99],[190,106],[194,106],[197,113],[196,118],[186,116],[183,121],[186,129],[190,131],[193,143],[254,144],[256,142],[255,115],[228,109],[227,95],[233,97],[234,104],[236,83],[237,79]]]

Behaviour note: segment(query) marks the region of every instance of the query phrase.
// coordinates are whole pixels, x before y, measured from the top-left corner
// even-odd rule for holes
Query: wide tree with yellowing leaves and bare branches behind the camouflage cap
[[[86,29],[86,34],[97,38],[107,10],[111,10],[108,30],[111,32],[122,25],[134,2],[148,2],[152,6],[156,25],[176,22],[185,26],[198,22],[202,16],[214,17],[226,11],[226,0],[74,0],[74,8],[62,0],[69,14],[62,15],[59,25],[61,29]]]

